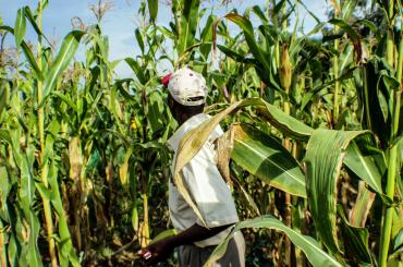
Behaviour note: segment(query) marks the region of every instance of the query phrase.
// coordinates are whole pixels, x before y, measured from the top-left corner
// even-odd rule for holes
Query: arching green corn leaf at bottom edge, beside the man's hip
[[[327,254],[316,240],[308,235],[301,234],[293,229],[286,227],[282,221],[274,218],[273,216],[266,215],[257,217],[255,219],[245,220],[237,222],[232,232],[225,238],[225,240],[219,244],[216,250],[211,253],[209,259],[205,264],[205,267],[210,266],[210,264],[225,253],[229,240],[234,235],[234,233],[243,228],[268,228],[276,231],[285,233],[291,242],[300,250],[305,253],[310,264],[315,267],[342,267],[343,265],[335,260],[331,255]]]

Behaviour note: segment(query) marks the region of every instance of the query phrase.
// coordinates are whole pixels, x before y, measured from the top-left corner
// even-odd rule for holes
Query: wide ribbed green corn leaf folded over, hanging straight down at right
[[[335,185],[345,149],[357,136],[369,131],[317,129],[309,138],[304,158],[307,194],[315,228],[330,252],[338,254],[335,231]]]

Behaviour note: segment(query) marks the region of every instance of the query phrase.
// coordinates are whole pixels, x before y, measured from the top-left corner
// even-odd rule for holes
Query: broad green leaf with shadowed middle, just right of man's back
[[[305,177],[298,162],[274,138],[248,125],[234,125],[231,158],[267,184],[306,197]]]

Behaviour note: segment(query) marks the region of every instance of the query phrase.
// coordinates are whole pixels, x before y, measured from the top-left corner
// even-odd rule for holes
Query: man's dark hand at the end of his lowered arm
[[[144,257],[146,265],[155,265],[169,258],[173,248],[174,246],[168,238],[150,244],[147,248],[139,251],[138,254]]]

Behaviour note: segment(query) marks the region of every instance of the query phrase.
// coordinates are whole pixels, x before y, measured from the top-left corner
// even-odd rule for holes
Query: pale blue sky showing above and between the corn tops
[[[95,23],[95,16],[89,10],[89,4],[98,2],[97,0],[49,0],[49,5],[44,13],[44,33],[48,38],[61,41],[62,38],[72,29],[71,19],[74,16],[81,17],[85,24]],[[123,59],[125,57],[134,57],[139,53],[136,46],[134,29],[138,26],[136,19],[137,10],[141,0],[113,0],[113,9],[105,16],[102,21],[103,34],[109,36],[110,41],[110,60]],[[162,0],[160,2],[167,2]],[[211,2],[220,2],[218,0],[206,1],[205,5],[210,5]],[[259,4],[264,5],[265,0],[246,1],[233,0],[229,7],[221,7],[213,12],[217,15],[223,15],[234,7],[240,12],[245,8]],[[329,7],[327,1],[304,0],[310,11],[321,21],[326,21],[326,10]],[[13,26],[16,11],[19,8],[29,5],[33,10],[37,5],[36,0],[0,0],[0,16],[5,25]],[[315,26],[314,20],[306,14],[303,8],[300,8],[300,17],[305,17],[304,31],[307,32]],[[171,20],[170,7],[160,4],[158,11],[158,24],[168,24]],[[26,39],[34,40],[35,33],[32,28],[27,28]],[[13,45],[13,38],[8,39],[10,46]],[[127,77],[132,73],[130,69],[121,63],[117,68],[118,75]]]

